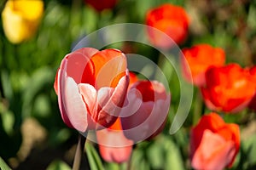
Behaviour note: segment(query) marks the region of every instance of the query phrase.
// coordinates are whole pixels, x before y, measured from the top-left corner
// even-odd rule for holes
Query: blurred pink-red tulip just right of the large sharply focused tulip
[[[137,142],[160,133],[165,126],[170,99],[160,82],[133,83],[120,113],[125,137]]]

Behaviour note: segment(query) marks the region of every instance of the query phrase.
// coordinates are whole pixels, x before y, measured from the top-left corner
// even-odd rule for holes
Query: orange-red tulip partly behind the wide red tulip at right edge
[[[222,66],[225,62],[224,50],[222,48],[212,48],[208,44],[183,48],[182,52],[184,55],[184,58],[182,58],[183,75],[189,80],[191,71],[193,83],[196,86],[205,85],[205,73],[210,66]]]

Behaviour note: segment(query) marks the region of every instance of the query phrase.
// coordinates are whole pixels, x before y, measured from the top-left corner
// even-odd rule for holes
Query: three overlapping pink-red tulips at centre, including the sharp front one
[[[164,85],[138,80],[117,49],[80,48],[67,54],[54,87],[63,122],[81,133],[97,130],[106,161],[129,160],[133,143],[160,133],[170,105]],[[163,118],[156,122],[158,117]]]

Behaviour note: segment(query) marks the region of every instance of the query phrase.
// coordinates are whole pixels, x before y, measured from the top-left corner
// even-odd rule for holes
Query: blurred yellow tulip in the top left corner
[[[3,31],[10,42],[24,42],[34,36],[44,13],[41,0],[9,0],[2,13]]]

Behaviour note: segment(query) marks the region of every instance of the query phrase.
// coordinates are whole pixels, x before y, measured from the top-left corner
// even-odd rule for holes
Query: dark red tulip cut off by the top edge
[[[84,2],[101,12],[104,9],[113,8],[118,0],[84,0]]]

